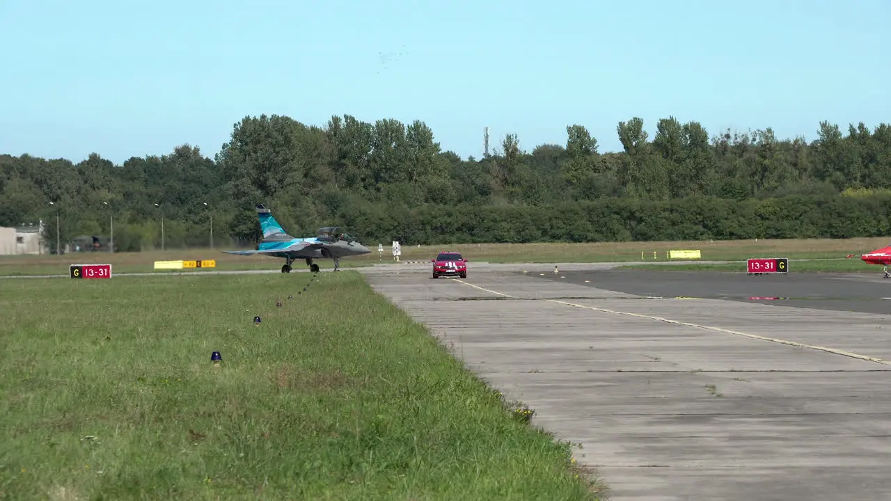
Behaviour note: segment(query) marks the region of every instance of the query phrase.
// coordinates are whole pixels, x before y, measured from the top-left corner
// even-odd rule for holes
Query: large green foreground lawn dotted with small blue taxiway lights
[[[598,496],[359,274],[310,277],[4,281],[0,499]]]

